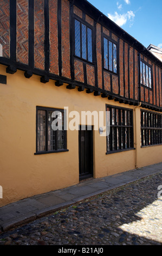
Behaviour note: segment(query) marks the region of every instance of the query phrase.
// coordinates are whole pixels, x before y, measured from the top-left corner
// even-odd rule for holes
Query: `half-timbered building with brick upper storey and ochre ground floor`
[[[1,0],[0,16],[0,205],[161,162],[160,59],[86,0]],[[64,129],[88,111],[110,113],[107,136]]]

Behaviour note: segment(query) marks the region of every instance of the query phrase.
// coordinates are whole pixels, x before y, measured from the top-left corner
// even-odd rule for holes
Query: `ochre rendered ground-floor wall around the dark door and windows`
[[[0,74],[7,75],[7,84],[0,84],[0,185],[3,187],[0,206],[79,182],[78,131],[67,131],[68,152],[34,155],[36,106],[68,107],[69,112],[79,113],[105,112],[106,103],[127,107],[113,100],[108,101],[100,96],[86,94],[86,91],[68,90],[66,85],[56,87],[51,80],[43,84],[40,77],[35,75],[27,79],[22,71],[10,75],[5,72],[5,68],[0,66]],[[140,109],[136,111],[139,114]],[[138,132],[140,137],[140,128]],[[99,131],[94,131],[93,140],[94,178],[135,168],[135,150],[106,155],[106,137],[100,137]],[[138,151],[139,167],[161,161],[158,154],[162,152],[162,146],[140,149],[139,145]],[[151,156],[154,156],[152,160]]]

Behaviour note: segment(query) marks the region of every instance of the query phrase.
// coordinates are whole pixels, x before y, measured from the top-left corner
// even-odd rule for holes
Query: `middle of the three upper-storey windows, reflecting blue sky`
[[[103,38],[104,68],[117,73],[117,45]]]

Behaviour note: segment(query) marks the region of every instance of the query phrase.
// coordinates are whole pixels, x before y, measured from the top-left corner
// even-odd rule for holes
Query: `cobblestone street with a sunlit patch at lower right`
[[[1,231],[0,245],[162,245],[161,178],[160,172]]]

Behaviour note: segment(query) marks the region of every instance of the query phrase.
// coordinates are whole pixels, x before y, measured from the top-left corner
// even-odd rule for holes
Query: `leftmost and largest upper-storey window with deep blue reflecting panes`
[[[93,62],[92,29],[75,19],[75,56]]]

